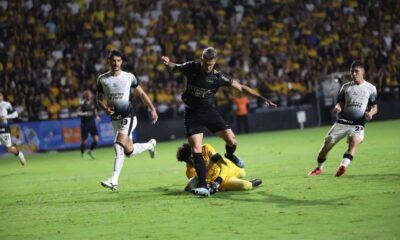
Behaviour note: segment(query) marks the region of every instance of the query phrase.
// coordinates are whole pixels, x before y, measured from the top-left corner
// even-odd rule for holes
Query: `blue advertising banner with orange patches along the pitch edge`
[[[99,132],[99,146],[111,146],[115,133],[109,116],[102,115],[96,121]],[[81,121],[79,118],[41,122],[10,124],[12,143],[23,152],[74,149],[81,144]],[[133,133],[136,140],[136,132]],[[92,142],[89,136],[87,145]],[[0,154],[5,153],[0,146]]]

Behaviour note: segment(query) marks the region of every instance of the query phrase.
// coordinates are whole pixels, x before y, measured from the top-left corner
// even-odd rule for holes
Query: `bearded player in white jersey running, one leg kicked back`
[[[107,115],[111,116],[112,127],[116,133],[114,140],[114,169],[112,177],[101,182],[103,187],[111,190],[118,189],[118,178],[124,164],[124,154],[127,157],[148,150],[150,157],[156,153],[156,140],[147,143],[133,143],[132,132],[137,125],[135,109],[131,101],[131,89],[138,92],[142,101],[151,110],[152,123],[156,123],[158,115],[153,103],[136,77],[129,72],[122,71],[122,53],[113,50],[108,56],[110,71],[100,75],[97,79],[97,102]]]

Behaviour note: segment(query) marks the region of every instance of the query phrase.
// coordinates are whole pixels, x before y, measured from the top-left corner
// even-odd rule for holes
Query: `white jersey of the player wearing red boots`
[[[343,104],[338,122],[350,125],[364,125],[365,111],[376,104],[376,87],[365,81],[358,85],[354,82],[343,84],[338,95],[338,102]]]

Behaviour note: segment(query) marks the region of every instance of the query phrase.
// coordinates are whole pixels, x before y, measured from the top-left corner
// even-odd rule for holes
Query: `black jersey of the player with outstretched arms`
[[[175,67],[187,78],[186,90],[182,101],[188,107],[208,108],[215,105],[215,93],[222,86],[232,86],[232,79],[223,73],[213,70],[205,73],[198,62],[186,62]]]

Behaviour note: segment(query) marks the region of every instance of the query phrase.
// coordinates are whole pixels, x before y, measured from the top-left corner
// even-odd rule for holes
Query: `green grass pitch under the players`
[[[139,125],[140,127],[140,125]],[[154,127],[154,130],[157,126]],[[112,148],[81,160],[78,151],[0,159],[0,239],[399,239],[400,120],[371,122],[353,163],[334,176],[340,142],[322,175],[308,177],[329,126],[238,135],[247,192],[199,198],[183,192],[184,140],[125,159],[120,189],[100,186]],[[217,138],[206,138],[223,152]]]

